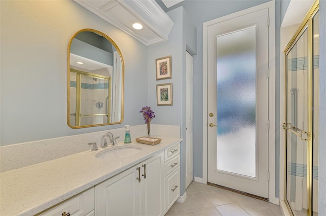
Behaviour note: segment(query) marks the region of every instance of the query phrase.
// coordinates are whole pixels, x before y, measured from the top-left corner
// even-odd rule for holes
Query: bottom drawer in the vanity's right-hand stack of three
[[[170,209],[180,196],[180,168],[165,178],[165,207]]]

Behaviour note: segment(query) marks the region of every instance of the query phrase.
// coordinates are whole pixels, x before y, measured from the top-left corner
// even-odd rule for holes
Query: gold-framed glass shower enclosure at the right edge
[[[318,1],[285,49],[285,198],[293,215],[318,215]]]

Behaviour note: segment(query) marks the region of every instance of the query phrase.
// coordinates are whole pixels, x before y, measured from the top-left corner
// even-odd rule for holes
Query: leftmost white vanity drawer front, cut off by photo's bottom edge
[[[38,215],[86,215],[94,210],[94,187],[80,193]]]

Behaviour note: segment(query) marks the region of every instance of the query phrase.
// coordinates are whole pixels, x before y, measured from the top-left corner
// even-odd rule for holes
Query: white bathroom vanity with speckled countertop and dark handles
[[[0,174],[1,215],[164,215],[180,196],[181,138],[127,157],[85,151]]]

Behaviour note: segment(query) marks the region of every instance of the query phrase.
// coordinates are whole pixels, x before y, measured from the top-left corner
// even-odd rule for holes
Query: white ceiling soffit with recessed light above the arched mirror
[[[174,22],[155,0],[74,0],[145,45],[169,39]],[[142,30],[132,23],[140,22]]]

